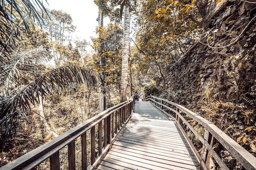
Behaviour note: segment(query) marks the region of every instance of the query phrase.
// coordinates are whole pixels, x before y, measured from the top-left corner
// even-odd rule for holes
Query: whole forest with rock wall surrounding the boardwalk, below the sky
[[[191,109],[256,156],[255,0],[94,2],[90,44],[47,0],[0,0],[0,166],[135,92]]]

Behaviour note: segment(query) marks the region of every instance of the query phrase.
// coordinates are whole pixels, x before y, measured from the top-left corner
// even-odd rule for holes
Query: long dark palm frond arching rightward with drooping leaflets
[[[0,101],[0,129],[4,135],[12,135],[19,120],[22,118],[28,121],[25,114],[30,109],[30,103],[39,103],[39,97],[48,97],[53,92],[74,85],[84,83],[93,87],[97,83],[98,75],[91,70],[78,66],[63,66],[51,70],[34,81],[16,91],[15,94],[6,96]]]

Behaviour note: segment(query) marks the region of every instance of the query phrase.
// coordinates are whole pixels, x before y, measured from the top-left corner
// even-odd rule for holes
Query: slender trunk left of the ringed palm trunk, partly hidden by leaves
[[[103,1],[101,0],[100,5],[102,5],[102,4],[103,4]],[[99,7],[99,8],[101,8],[101,7]],[[99,26],[103,26],[103,13],[101,13],[100,11],[99,11],[97,21],[99,22]],[[101,34],[101,31],[99,32],[99,34]],[[105,60],[104,57],[101,56],[102,51],[103,51],[103,49],[101,49],[100,52],[99,52],[99,54],[100,54],[99,59],[100,59],[101,68],[103,68],[103,66],[106,66],[106,60]],[[102,112],[102,111],[106,110],[106,89],[104,87],[104,85],[105,85],[105,72],[101,72],[100,79],[101,79],[101,86],[99,87],[99,112]]]

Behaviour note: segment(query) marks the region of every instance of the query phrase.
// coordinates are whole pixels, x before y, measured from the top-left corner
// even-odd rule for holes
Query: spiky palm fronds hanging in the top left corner
[[[15,49],[20,35],[30,31],[36,22],[43,23],[38,11],[47,14],[42,0],[0,0],[0,56]]]

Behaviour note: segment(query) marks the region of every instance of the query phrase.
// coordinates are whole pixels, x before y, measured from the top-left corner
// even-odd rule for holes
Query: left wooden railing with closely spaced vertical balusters
[[[1,167],[0,170],[35,169],[36,166],[48,158],[50,169],[59,170],[61,166],[59,151],[65,146],[67,146],[68,150],[68,168],[69,170],[75,170],[75,142],[79,137],[81,137],[81,140],[79,139],[79,141],[81,141],[81,150],[79,151],[81,152],[81,168],[79,169],[93,169],[100,161],[101,157],[111,148],[112,140],[119,133],[122,126],[130,119],[132,109],[133,100],[131,98],[126,102],[106,109],[97,116],[94,116],[46,144]],[[95,130],[96,126],[97,131]],[[97,135],[95,132],[97,132]],[[91,134],[91,140],[87,140],[87,134],[89,133]],[[97,140],[95,137],[97,137]],[[96,150],[96,144],[98,150]],[[87,148],[91,148],[90,157],[87,155]],[[90,158],[90,165],[87,166],[88,158]]]

